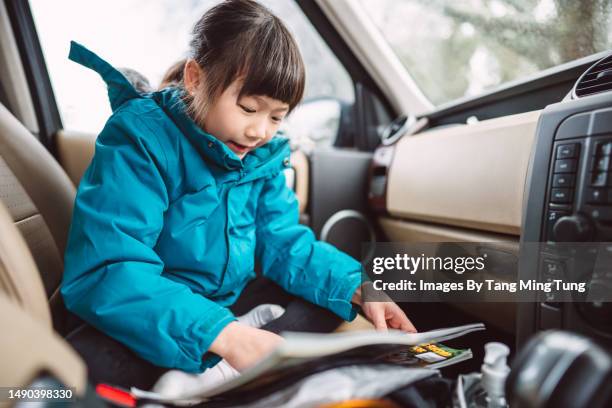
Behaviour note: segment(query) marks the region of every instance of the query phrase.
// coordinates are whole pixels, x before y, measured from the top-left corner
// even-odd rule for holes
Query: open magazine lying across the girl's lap
[[[207,400],[252,395],[256,390],[266,390],[266,387],[266,392],[270,392],[270,386],[279,388],[288,381],[294,383],[316,372],[350,364],[394,363],[440,368],[466,360],[472,354],[469,349],[452,349],[439,342],[484,329],[484,324],[474,323],[422,333],[404,333],[399,330],[332,334],[284,332],[282,336],[285,341],[268,357],[239,377],[212,389],[192,391],[172,399],[137,388],[132,388],[131,392],[139,399],[191,405]]]

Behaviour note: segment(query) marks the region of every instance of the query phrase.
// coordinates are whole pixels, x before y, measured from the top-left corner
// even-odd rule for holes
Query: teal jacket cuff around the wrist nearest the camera
[[[236,317],[228,309],[219,307],[213,313],[195,323],[189,337],[193,339],[193,347],[181,347],[174,367],[189,373],[201,373],[207,368],[215,366],[221,357],[208,352],[210,345],[215,341],[219,333]]]

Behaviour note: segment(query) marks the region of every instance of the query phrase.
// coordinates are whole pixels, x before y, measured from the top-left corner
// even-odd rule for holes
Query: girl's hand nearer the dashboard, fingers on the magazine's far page
[[[352,302],[361,306],[363,313],[372,322],[376,330],[387,331],[388,328],[392,328],[407,333],[417,332],[404,311],[391,300],[388,302],[364,302],[361,298],[361,287],[359,287],[353,295]]]

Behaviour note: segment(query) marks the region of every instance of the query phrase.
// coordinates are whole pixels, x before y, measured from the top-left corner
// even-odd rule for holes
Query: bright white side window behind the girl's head
[[[31,0],[64,128],[98,133],[110,115],[102,80],[68,60],[70,40],[115,67],[138,71],[157,87],[166,69],[187,56],[194,23],[218,2]],[[261,3],[283,19],[300,46],[307,71],[305,100],[332,97],[352,103],[349,75],[297,4],[287,0]]]

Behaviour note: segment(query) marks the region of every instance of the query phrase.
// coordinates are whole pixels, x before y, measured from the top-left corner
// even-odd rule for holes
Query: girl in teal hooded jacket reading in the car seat
[[[92,381],[149,388],[166,368],[223,358],[241,371],[281,330],[332,331],[357,306],[377,329],[414,331],[395,303],[362,304],[359,262],[298,224],[288,143],[274,135],[305,73],[283,23],[229,0],[197,22],[191,48],[179,86],[140,94],[71,47],[113,108],[79,185],[62,285],[87,322],[69,340]],[[256,261],[267,280],[254,280]],[[286,312],[262,328],[234,317],[270,301]]]

